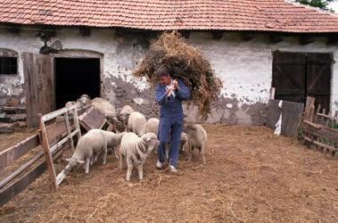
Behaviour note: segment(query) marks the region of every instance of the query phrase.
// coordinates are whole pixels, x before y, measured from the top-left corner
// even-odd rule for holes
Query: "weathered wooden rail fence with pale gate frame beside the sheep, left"
[[[78,115],[81,120],[77,119]],[[45,124],[50,120],[54,121]],[[79,125],[87,130],[93,126],[107,127],[103,114],[98,114],[98,111],[91,106],[78,108],[78,104],[75,104],[69,108],[62,108],[41,116],[40,129],[36,134],[0,152],[0,171],[3,171],[33,149],[39,151],[36,156],[25,161],[18,169],[0,181],[0,206],[12,200],[16,194],[21,193],[45,172],[45,169],[49,169],[53,188],[56,189],[60,185],[63,178],[56,180],[53,162],[62,157],[65,150],[69,148],[74,150],[73,136],[81,136]],[[41,148],[37,148],[38,146]]]

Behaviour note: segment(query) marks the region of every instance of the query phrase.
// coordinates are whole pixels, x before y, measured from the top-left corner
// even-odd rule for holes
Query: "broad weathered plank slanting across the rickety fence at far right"
[[[338,130],[320,126],[305,120],[301,123],[301,127],[303,131],[311,135],[326,138],[329,141],[338,143]]]

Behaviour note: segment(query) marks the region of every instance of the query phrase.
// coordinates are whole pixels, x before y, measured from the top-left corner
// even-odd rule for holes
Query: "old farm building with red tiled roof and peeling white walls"
[[[79,95],[158,115],[132,76],[162,31],[177,29],[210,58],[224,88],[206,122],[260,125],[276,99],[338,109],[338,16],[284,0],[28,1],[0,3],[0,105],[37,113]],[[185,112],[196,121],[196,108]]]

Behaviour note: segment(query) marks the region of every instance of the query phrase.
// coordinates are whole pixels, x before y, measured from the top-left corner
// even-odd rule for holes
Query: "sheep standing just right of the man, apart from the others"
[[[199,124],[189,124],[186,126],[187,146],[188,146],[188,161],[191,161],[194,148],[200,150],[203,164],[206,164],[204,151],[207,144],[207,132]]]

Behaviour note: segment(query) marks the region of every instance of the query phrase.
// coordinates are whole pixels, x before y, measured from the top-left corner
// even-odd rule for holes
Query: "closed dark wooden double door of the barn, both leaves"
[[[315,105],[330,109],[333,55],[326,53],[274,52],[272,87],[275,99],[305,103],[315,97]]]

